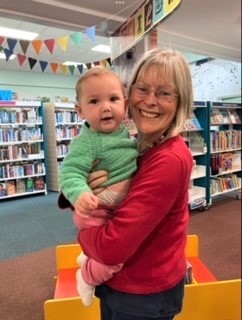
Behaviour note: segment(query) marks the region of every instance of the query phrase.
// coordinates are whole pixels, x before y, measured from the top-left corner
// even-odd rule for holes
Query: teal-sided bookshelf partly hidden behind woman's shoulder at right
[[[208,163],[208,108],[204,101],[194,101],[193,112],[182,133],[193,155],[189,188],[190,209],[207,210],[210,204]]]

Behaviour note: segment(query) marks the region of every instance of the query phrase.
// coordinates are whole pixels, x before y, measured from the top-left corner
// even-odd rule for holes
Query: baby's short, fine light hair
[[[80,98],[82,83],[90,77],[99,77],[101,75],[111,75],[111,76],[117,78],[117,80],[120,82],[120,86],[123,91],[123,94],[125,93],[124,84],[122,83],[122,80],[117,75],[117,73],[115,73],[113,70],[107,69],[103,66],[95,66],[95,67],[89,69],[88,71],[86,71],[84,73],[84,75],[81,76],[81,78],[77,81],[77,83],[76,83],[76,101],[78,101]]]

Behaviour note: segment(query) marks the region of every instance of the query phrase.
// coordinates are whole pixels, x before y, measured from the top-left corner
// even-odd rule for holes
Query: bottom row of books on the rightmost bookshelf
[[[211,178],[210,180],[210,194],[215,195],[218,193],[232,190],[234,188],[241,188],[241,178],[236,174],[230,174],[223,177]]]

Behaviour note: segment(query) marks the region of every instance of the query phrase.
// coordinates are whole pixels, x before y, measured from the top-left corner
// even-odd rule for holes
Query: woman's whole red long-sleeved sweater
[[[106,265],[124,263],[106,282],[113,289],[149,294],[185,277],[190,150],[181,137],[149,150],[129,194],[106,225],[82,230],[85,254]]]

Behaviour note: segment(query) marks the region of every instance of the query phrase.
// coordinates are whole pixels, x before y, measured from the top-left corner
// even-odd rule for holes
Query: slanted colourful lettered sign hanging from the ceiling
[[[111,36],[111,60],[133,47],[170,15],[181,0],[146,0]]]

